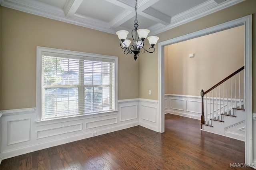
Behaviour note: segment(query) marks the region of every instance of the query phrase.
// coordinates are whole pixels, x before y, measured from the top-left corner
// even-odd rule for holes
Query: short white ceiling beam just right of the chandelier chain
[[[166,14],[163,14],[162,12],[159,12],[158,10],[155,10],[151,7],[147,8],[144,11],[139,12],[138,14],[146,18],[149,18],[155,22],[164,24],[165,26],[168,26],[171,23],[170,16],[167,16]]]

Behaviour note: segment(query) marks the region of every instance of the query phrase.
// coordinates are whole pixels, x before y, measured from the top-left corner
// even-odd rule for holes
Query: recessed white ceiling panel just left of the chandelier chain
[[[124,8],[105,0],[83,0],[76,12],[80,15],[110,22],[123,11]]]

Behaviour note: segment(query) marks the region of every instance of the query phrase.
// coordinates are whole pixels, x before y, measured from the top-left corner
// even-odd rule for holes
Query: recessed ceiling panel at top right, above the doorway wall
[[[151,8],[167,16],[175,16],[206,1],[208,0],[160,0],[152,5]]]

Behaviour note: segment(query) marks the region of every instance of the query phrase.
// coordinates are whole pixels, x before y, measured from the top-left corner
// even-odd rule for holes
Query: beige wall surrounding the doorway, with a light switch
[[[253,14],[252,24],[252,78],[253,78],[253,101],[256,101],[256,0],[246,0],[224,10],[215,12],[198,20],[178,26],[156,36],[159,42],[183,36],[198,30],[216,26],[237,18]],[[158,100],[158,46],[155,53],[144,53],[140,55],[139,77],[140,77],[140,98]],[[148,95],[146,89],[152,90],[152,95]],[[256,104],[253,105],[253,112],[256,112]]]

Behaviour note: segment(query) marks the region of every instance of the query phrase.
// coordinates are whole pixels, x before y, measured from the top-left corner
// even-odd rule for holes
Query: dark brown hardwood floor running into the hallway
[[[3,160],[0,170],[224,170],[244,162],[244,142],[165,115],[165,132],[136,126]],[[250,169],[252,168],[236,168]]]

